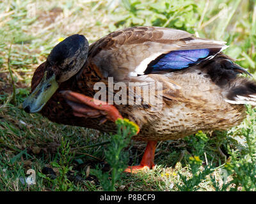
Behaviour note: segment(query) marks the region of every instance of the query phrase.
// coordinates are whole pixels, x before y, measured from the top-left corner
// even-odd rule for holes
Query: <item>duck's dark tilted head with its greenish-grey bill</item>
[[[83,67],[88,55],[88,41],[74,34],[54,47],[45,62],[44,77],[23,103],[28,113],[40,112],[62,82]]]

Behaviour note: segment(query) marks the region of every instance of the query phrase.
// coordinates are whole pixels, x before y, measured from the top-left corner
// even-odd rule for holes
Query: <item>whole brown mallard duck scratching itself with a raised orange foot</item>
[[[225,42],[165,27],[115,31],[90,47],[83,35],[74,34],[36,69],[24,110],[103,132],[115,132],[114,121],[127,118],[140,127],[132,138],[147,142],[147,147],[140,165],[125,171],[153,168],[157,141],[237,126],[246,117],[244,104],[256,105],[255,81],[239,75],[250,73],[223,54],[225,48]],[[142,92],[149,89],[161,103],[111,104],[107,98],[96,104],[95,85],[109,88],[109,78],[125,84],[128,94],[134,87],[142,89],[125,101],[145,101]],[[130,82],[138,85],[128,89]],[[156,82],[160,89],[150,87]]]

